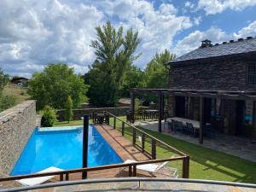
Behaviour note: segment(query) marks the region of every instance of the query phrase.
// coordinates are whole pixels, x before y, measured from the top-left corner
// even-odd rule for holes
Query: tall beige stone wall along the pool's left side
[[[0,172],[9,174],[36,126],[36,102],[26,101],[0,113]]]

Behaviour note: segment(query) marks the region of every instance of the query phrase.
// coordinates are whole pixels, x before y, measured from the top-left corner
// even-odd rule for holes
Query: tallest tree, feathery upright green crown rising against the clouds
[[[93,104],[113,106],[119,98],[126,70],[140,56],[135,55],[135,51],[141,40],[132,29],[123,36],[123,27],[116,30],[109,21],[105,26],[96,27],[96,36],[91,47],[97,59],[85,74],[90,84],[88,96]]]

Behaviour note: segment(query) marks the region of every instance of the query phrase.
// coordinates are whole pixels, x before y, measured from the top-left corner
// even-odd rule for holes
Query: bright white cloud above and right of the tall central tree
[[[144,67],[156,51],[169,48],[178,32],[193,25],[189,16],[177,16],[177,9],[171,3],[161,3],[160,9],[155,9],[148,1],[113,1],[108,14],[118,16],[125,29],[132,27],[139,32],[142,43],[138,52],[143,52],[136,61],[139,67]]]

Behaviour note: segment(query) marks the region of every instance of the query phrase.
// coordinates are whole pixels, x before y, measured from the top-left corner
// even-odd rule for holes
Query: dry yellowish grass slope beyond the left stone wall
[[[17,100],[17,104],[20,102],[24,102],[27,99],[29,99],[29,95],[27,94],[27,88],[26,87],[20,87],[20,86],[15,86],[14,84],[7,84],[4,89],[3,89],[3,95],[13,95],[15,96]]]

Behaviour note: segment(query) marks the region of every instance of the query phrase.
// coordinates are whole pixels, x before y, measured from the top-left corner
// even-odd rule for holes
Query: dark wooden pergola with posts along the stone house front
[[[203,143],[204,122],[204,98],[227,100],[253,101],[253,128],[256,129],[256,91],[225,91],[225,90],[174,90],[174,89],[131,89],[131,123],[135,122],[135,98],[136,94],[157,94],[159,96],[158,131],[161,131],[161,121],[164,119],[165,96],[191,96],[200,99],[200,131],[199,143]]]

